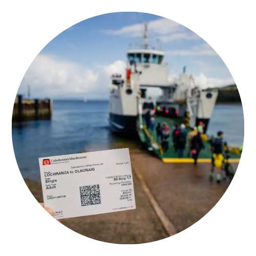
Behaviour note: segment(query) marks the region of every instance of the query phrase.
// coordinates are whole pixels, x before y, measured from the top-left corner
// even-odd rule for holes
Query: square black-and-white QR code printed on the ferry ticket
[[[101,204],[99,185],[88,185],[80,187],[82,206]]]

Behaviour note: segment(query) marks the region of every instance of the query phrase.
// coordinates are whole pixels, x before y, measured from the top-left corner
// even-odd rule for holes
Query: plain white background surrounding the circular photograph
[[[1,246],[2,255],[255,255],[255,8],[254,1],[5,1],[1,18]],[[3,4],[4,3],[4,4]],[[121,4],[122,3],[122,4]],[[238,4],[239,3],[239,4]],[[59,224],[41,208],[19,173],[11,140],[14,98],[26,70],[55,36],[83,19],[115,11],[168,17],[216,50],[242,98],[244,152],[219,203],[199,222],[158,242],[114,245]],[[236,129],[236,127],[234,127]]]

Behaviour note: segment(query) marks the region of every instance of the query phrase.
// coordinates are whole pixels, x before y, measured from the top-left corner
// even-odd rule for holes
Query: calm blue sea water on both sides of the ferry
[[[40,180],[38,157],[138,147],[137,140],[127,140],[109,131],[108,116],[108,101],[55,100],[52,120],[13,125],[14,153],[23,177]],[[225,139],[230,144],[240,145],[243,142],[241,104],[215,106],[208,133],[216,134],[219,130],[224,131]]]

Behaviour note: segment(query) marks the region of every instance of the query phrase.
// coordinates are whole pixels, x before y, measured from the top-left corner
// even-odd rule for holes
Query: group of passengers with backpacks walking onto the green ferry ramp
[[[198,126],[188,132],[184,123],[175,124],[172,131],[167,122],[158,122],[155,125],[156,120],[153,110],[147,111],[144,119],[148,131],[152,134],[156,131],[156,140],[161,145],[163,152],[167,152],[170,147],[173,147],[177,157],[183,158],[185,148],[188,146],[186,157],[193,158],[194,164],[197,165],[199,154],[205,148],[202,140],[205,126],[203,122],[199,122]],[[233,175],[233,169],[229,163],[228,146],[227,143],[223,142],[223,135],[224,133],[219,131],[217,137],[211,137],[208,140],[212,153],[209,178],[213,180],[214,176],[216,176],[215,179],[217,182],[220,182],[222,179],[221,172],[223,168],[226,176],[232,178]],[[172,141],[171,145],[170,141]]]

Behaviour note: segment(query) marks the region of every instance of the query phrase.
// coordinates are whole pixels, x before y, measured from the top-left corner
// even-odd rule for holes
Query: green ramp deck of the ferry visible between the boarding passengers
[[[174,145],[173,145],[173,141],[172,141],[172,131],[174,130],[174,125],[176,123],[182,123],[182,119],[170,119],[170,118],[166,118],[166,117],[161,117],[161,116],[156,116],[156,122],[155,122],[155,127],[157,125],[158,122],[160,122],[161,124],[163,122],[166,122],[169,127],[170,127],[170,137],[169,137],[169,150],[167,152],[164,152],[162,155],[160,154],[160,151],[158,149],[153,148],[153,151],[155,152],[155,154],[159,157],[159,158],[178,158],[178,152],[175,152],[174,150]],[[189,131],[188,131],[189,132]],[[150,133],[150,135],[154,138],[154,140],[157,142],[157,144],[159,144],[159,142],[157,141],[157,134],[156,134],[156,129],[151,132],[150,130],[148,130],[148,133]],[[147,147],[150,147],[152,145],[150,139],[147,138],[145,132],[143,130],[139,131],[139,137],[141,139],[141,141],[147,145]],[[211,158],[212,153],[210,151],[210,144],[209,142],[203,141],[205,148],[202,148],[200,154],[199,154],[199,159],[200,158]],[[231,154],[229,153],[229,156],[231,159],[237,159],[240,158],[240,155],[235,155],[235,154]],[[188,148],[188,140],[186,142],[186,148],[184,150],[184,158],[190,158],[190,150]]]

